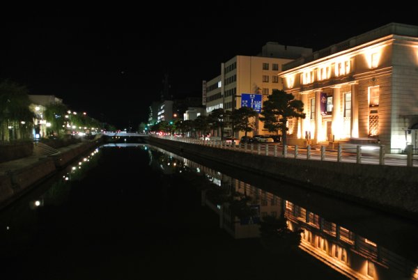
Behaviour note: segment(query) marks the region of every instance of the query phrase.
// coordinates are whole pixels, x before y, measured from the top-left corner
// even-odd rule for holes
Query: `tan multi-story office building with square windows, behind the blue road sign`
[[[281,89],[278,74],[281,65],[302,55],[311,54],[312,49],[279,45],[268,42],[257,56],[234,56],[221,63],[221,74],[206,82],[206,111],[223,108],[229,111],[241,107],[242,93],[258,93],[266,99],[273,89]],[[215,136],[217,132],[214,132]],[[233,135],[231,127],[225,133]],[[259,121],[254,134],[268,134]],[[238,133],[235,134],[238,137]]]

